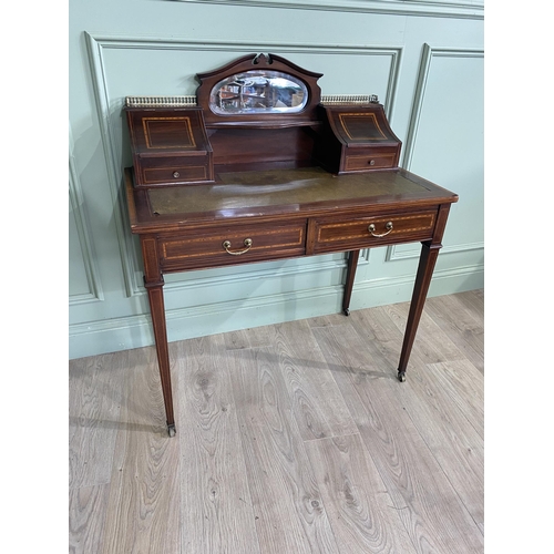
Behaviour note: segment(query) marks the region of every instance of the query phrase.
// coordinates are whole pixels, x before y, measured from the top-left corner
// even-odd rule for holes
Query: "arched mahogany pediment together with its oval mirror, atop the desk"
[[[305,125],[317,121],[320,76],[276,54],[248,54],[197,73],[196,98],[208,126]]]

